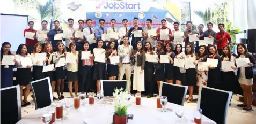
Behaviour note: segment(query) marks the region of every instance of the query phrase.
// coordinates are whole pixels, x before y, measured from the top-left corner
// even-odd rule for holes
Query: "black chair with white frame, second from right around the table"
[[[187,89],[188,86],[181,86],[161,81],[159,96],[167,96],[168,102],[183,106]]]

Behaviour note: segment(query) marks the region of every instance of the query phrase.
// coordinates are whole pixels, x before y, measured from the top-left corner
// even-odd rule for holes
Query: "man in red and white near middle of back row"
[[[165,44],[167,44],[167,43],[169,43],[170,42],[170,40],[172,40],[172,30],[170,29],[170,28],[167,28],[166,27],[166,20],[165,19],[163,19],[163,20],[161,20],[161,24],[162,24],[162,27],[161,28],[158,28],[157,29],[157,36],[159,37],[158,38],[158,41],[161,41],[161,42],[163,42],[164,43],[164,41],[165,41],[165,43],[164,43],[164,45]],[[168,29],[169,30],[169,38],[168,39],[165,39],[165,40],[162,40],[161,39],[161,36],[160,36],[160,30],[164,30],[164,29]]]

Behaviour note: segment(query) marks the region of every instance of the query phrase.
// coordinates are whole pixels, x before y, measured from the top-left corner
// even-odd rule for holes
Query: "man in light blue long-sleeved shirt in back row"
[[[101,38],[102,34],[107,34],[107,30],[104,29],[104,25],[105,25],[105,20],[104,19],[99,19],[99,27],[95,30],[95,37],[97,39]],[[107,39],[101,39],[103,40],[103,49],[107,48]]]

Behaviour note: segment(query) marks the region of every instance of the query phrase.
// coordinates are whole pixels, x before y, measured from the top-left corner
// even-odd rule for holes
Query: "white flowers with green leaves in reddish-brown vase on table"
[[[113,92],[115,113],[113,115],[113,124],[126,124],[127,123],[127,108],[128,101],[126,100],[127,91],[123,91],[123,88],[115,89]]]

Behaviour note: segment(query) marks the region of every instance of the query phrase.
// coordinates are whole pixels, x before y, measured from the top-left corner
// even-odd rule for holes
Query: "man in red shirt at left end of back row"
[[[30,27],[30,28],[28,28],[28,29],[25,29],[24,30],[24,33],[23,33],[23,36],[25,37],[25,33],[26,32],[32,32],[32,33],[35,33],[36,34],[36,30],[34,30],[34,22],[33,21],[29,21],[28,22],[28,26]],[[34,39],[32,40],[32,39],[27,39],[26,38],[26,45],[27,45],[27,52],[28,53],[31,53],[32,51],[33,51],[33,49],[34,49],[34,45],[37,43],[37,41],[36,41],[36,37],[34,36]]]

